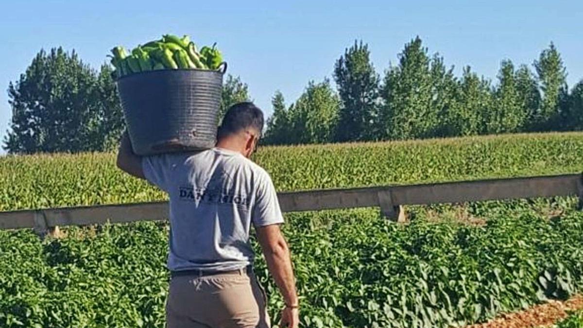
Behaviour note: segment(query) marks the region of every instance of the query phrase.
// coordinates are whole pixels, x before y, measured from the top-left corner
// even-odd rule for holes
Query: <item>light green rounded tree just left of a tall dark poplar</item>
[[[340,99],[330,82],[311,81],[304,93],[289,109],[290,138],[288,144],[317,144],[333,141]]]

